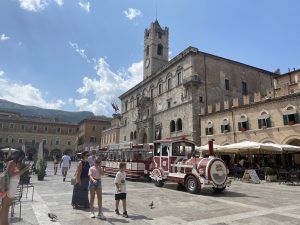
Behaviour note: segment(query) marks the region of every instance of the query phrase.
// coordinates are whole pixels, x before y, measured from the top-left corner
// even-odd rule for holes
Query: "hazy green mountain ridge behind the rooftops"
[[[0,111],[18,113],[23,117],[55,119],[57,122],[79,123],[83,119],[95,116],[89,111],[68,112],[55,109],[43,109],[35,106],[25,106],[0,99]],[[105,116],[103,116],[106,118]]]

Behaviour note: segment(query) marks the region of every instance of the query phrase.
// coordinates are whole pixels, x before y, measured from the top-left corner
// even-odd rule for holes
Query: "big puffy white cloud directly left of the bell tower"
[[[127,70],[113,72],[104,58],[94,66],[97,78],[83,78],[83,86],[77,89],[80,99],[74,100],[79,110],[89,110],[96,115],[110,116],[111,103],[131,87],[142,81],[143,61],[133,63]],[[88,98],[87,96],[92,96]],[[119,108],[120,105],[119,105]]]

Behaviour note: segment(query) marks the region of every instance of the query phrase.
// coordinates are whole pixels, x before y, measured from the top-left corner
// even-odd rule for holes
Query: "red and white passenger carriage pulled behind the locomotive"
[[[113,145],[101,153],[104,155],[102,166],[107,175],[115,176],[119,171],[120,162],[125,162],[127,178],[148,178],[152,150],[153,144]]]

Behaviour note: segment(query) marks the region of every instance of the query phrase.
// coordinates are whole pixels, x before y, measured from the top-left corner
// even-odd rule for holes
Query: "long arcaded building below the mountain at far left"
[[[25,118],[17,113],[0,112],[0,148],[23,149],[32,157],[39,143],[44,142],[44,156],[75,153],[77,124],[50,119]]]

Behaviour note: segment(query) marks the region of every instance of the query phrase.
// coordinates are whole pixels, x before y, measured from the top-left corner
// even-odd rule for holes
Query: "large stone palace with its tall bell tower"
[[[169,29],[144,33],[143,81],[122,94],[120,142],[186,137],[200,144],[199,112],[273,87],[272,72],[188,47],[168,60]]]

